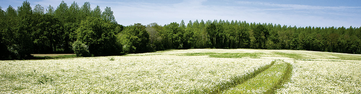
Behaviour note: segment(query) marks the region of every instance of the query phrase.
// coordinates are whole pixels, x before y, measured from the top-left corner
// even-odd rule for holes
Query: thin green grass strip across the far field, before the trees
[[[260,53],[183,53],[176,54],[181,56],[200,56],[209,55],[209,57],[215,58],[242,58],[242,57],[259,57]]]

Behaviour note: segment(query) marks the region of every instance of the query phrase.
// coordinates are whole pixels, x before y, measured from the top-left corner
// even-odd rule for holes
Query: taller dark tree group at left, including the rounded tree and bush
[[[79,6],[62,1],[57,8],[28,1],[14,9],[0,8],[1,59],[29,59],[30,54],[83,52],[83,56],[119,55],[122,45],[115,36],[123,26],[110,7],[104,12],[90,3]],[[83,46],[81,46],[83,45]],[[84,50],[86,50],[85,53]]]

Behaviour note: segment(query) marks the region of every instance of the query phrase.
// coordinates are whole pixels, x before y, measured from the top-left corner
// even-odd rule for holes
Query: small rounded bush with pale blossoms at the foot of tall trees
[[[83,44],[81,41],[75,41],[73,43],[73,51],[77,54],[77,57],[89,57],[89,47]]]

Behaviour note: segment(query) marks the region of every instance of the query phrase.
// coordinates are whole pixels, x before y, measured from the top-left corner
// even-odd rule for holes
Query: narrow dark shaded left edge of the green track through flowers
[[[254,70],[251,73],[247,73],[245,75],[242,76],[236,76],[236,77],[232,77],[230,82],[226,82],[226,83],[222,83],[219,85],[214,86],[214,88],[209,89],[209,90],[202,90],[202,91],[194,91],[192,92],[192,94],[220,94],[222,93],[224,90],[230,89],[232,87],[235,87],[239,84],[242,84],[243,82],[252,79],[253,77],[256,77],[259,73],[267,70],[268,68],[270,68],[271,66],[273,66],[273,64],[276,61],[272,61],[270,64],[260,67],[256,70]]]

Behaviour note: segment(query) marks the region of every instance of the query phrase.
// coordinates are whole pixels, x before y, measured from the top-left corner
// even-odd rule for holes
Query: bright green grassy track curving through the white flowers
[[[292,69],[290,64],[275,64],[267,70],[259,73],[252,79],[243,82],[229,90],[225,94],[273,94],[290,78]]]

